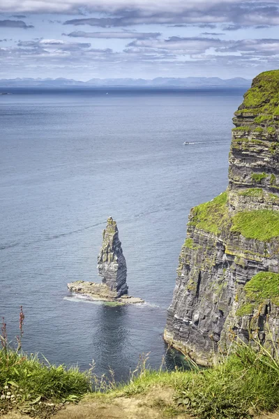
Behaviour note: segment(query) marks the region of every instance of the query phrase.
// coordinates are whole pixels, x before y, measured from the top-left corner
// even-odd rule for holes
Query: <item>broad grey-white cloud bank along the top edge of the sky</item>
[[[276,0],[0,0],[1,12],[93,14],[64,22],[91,27],[193,24],[214,29],[216,24],[225,24],[236,30],[279,24]]]

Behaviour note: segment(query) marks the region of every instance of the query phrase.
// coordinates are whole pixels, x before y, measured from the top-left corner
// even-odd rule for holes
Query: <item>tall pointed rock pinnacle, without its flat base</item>
[[[110,216],[107,227],[103,230],[103,244],[98,255],[98,274],[103,277],[105,284],[116,297],[128,293],[127,267],[119,240],[116,221]]]

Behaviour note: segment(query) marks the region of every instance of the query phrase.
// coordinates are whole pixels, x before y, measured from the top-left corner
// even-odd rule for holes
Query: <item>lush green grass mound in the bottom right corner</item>
[[[252,418],[279,405],[279,364],[262,346],[239,344],[216,367],[186,374],[177,402],[199,419]]]

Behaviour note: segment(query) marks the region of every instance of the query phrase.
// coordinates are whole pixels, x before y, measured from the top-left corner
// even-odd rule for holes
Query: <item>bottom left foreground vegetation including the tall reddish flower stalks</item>
[[[0,342],[0,416],[9,409],[26,413],[55,413],[59,402],[77,402],[91,390],[91,375],[77,367],[51,365],[45,358],[22,352],[24,314],[20,309],[20,336],[16,348],[8,343],[3,319]],[[49,402],[52,402],[50,409]],[[51,410],[51,412],[50,412]]]

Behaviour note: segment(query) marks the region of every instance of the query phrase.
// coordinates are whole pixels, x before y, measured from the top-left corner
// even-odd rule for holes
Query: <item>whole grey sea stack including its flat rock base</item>
[[[84,295],[91,300],[135,304],[144,302],[141,298],[128,295],[127,267],[119,240],[116,221],[110,216],[103,230],[103,244],[98,255],[98,274],[102,284],[75,281],[68,284],[73,293]]]

